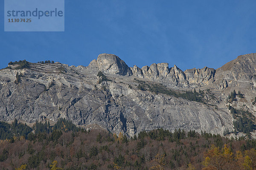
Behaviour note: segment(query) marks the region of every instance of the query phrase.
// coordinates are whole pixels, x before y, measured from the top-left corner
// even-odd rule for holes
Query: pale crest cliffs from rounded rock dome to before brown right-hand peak
[[[215,69],[189,69],[186,71],[180,70],[176,65],[169,68],[168,63],[152,64],[149,67],[143,68],[134,67],[129,68],[123,60],[113,54],[100,54],[97,60],[93,60],[89,64],[90,68],[99,69],[103,73],[119,74],[126,76],[135,76],[162,82],[165,85],[179,86],[179,87],[201,87],[209,85],[214,82]]]

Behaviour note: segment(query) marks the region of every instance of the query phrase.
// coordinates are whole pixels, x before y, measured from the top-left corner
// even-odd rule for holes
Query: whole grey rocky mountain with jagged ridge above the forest
[[[128,67],[113,54],[87,67],[10,62],[0,70],[0,120],[66,118],[127,136],[156,128],[253,135],[255,61],[246,54],[216,70],[186,71],[168,63]]]

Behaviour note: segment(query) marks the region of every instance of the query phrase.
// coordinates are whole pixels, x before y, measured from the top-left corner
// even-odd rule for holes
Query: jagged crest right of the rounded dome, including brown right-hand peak
[[[204,67],[192,68],[183,72],[176,65],[169,68],[168,63],[152,64],[150,67],[144,66],[142,69],[135,65],[131,70],[136,77],[159,81],[170,86],[200,88],[213,85],[217,89],[225,89],[228,86],[239,85],[242,88],[249,88],[252,83],[256,85],[253,78],[256,77],[255,63],[256,54],[246,54],[217,70]]]

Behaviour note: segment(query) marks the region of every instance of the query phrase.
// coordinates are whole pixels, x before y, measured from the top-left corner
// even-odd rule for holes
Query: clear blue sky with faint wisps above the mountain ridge
[[[130,67],[184,71],[256,52],[255,0],[65,0],[64,32],[4,32],[0,6],[0,68],[22,59],[87,66],[110,53]]]

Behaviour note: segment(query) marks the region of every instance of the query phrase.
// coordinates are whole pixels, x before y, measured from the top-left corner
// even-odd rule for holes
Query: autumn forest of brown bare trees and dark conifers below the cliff
[[[156,129],[129,139],[65,119],[54,126],[36,122],[30,129],[15,120],[1,122],[1,128],[7,132],[0,140],[1,170],[256,169],[256,140],[244,137]]]

